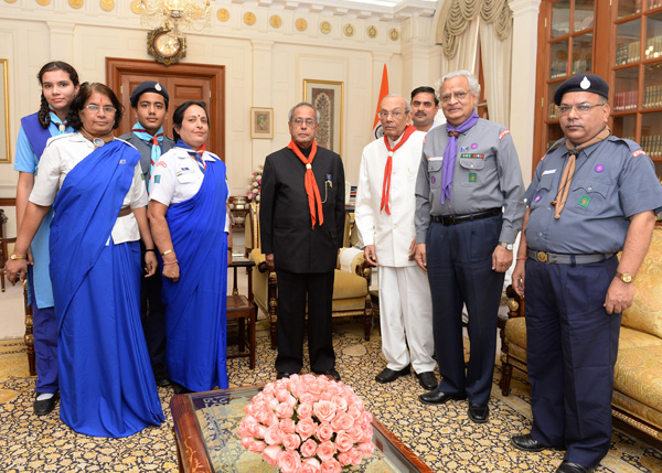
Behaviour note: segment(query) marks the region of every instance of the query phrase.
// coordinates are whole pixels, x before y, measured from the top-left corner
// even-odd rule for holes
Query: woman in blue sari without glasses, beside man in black
[[[205,151],[204,103],[173,117],[175,144],[150,178],[152,236],[163,258],[168,373],[177,394],[227,387],[228,196],[225,163]]]

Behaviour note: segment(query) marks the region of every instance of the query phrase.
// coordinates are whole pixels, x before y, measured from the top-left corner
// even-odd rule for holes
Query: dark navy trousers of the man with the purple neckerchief
[[[444,226],[430,223],[427,269],[433,294],[435,351],[441,393],[488,404],[496,354],[496,318],[505,273],[492,270],[501,216]],[[465,369],[462,304],[469,312],[469,366]]]

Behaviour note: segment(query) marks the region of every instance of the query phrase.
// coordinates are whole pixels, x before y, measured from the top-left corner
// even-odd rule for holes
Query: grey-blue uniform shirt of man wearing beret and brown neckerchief
[[[565,139],[538,163],[525,200],[530,205],[526,245],[563,255],[620,251],[634,214],[662,211],[662,185],[652,161],[634,141],[608,137],[577,157],[575,175],[560,218],[554,218]]]

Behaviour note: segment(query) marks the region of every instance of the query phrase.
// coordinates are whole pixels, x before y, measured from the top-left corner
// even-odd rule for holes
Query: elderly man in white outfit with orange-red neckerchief
[[[391,383],[413,367],[420,385],[434,389],[430,289],[413,260],[414,187],[426,133],[409,125],[412,108],[397,95],[384,97],[380,119],[384,137],[363,149],[355,208],[365,259],[380,266],[382,353],[387,365],[375,379]]]

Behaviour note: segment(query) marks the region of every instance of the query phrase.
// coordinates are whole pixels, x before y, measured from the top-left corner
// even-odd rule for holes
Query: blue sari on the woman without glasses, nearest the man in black
[[[180,279],[163,278],[170,378],[203,391],[227,387],[225,163],[206,161],[197,193],[168,208]]]

